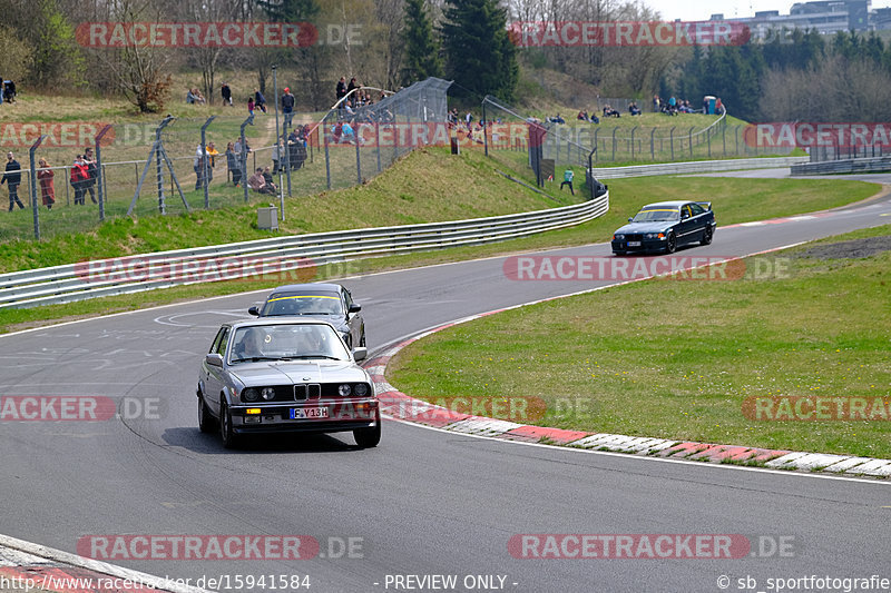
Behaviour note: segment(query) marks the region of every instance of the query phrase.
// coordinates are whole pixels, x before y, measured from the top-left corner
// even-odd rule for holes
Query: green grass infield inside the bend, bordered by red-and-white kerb
[[[877,320],[888,319],[891,251],[799,257],[810,246],[777,255],[787,275],[647,280],[456,326],[402,350],[389,380],[427,401],[538,397],[548,413],[531,423],[544,426],[891,458],[889,422],[743,415],[751,396],[890,403],[891,343]]]

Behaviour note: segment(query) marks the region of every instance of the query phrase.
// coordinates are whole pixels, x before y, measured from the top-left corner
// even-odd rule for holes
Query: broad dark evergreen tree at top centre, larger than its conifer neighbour
[[[513,100],[519,80],[517,48],[507,31],[507,12],[497,0],[447,0],[441,26],[447,72],[456,93],[471,99],[496,95]]]

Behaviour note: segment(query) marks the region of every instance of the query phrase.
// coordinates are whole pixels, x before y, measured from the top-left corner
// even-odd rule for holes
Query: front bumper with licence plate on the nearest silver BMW
[[[248,411],[260,409],[260,413]],[[324,417],[292,418],[291,411],[324,409]],[[248,433],[339,433],[371,428],[380,423],[376,398],[320,399],[300,403],[239,405],[229,408],[236,434]]]

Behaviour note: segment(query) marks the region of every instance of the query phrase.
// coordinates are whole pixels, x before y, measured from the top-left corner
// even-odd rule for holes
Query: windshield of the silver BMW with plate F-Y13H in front
[[[329,325],[284,324],[239,327],[229,354],[233,364],[303,358],[349,360],[350,353]]]

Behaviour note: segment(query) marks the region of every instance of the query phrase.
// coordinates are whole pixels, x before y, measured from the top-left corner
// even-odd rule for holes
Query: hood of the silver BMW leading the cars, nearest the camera
[[[231,369],[245,386],[287,383],[368,382],[365,372],[345,360],[293,360],[282,363],[243,363]]]

